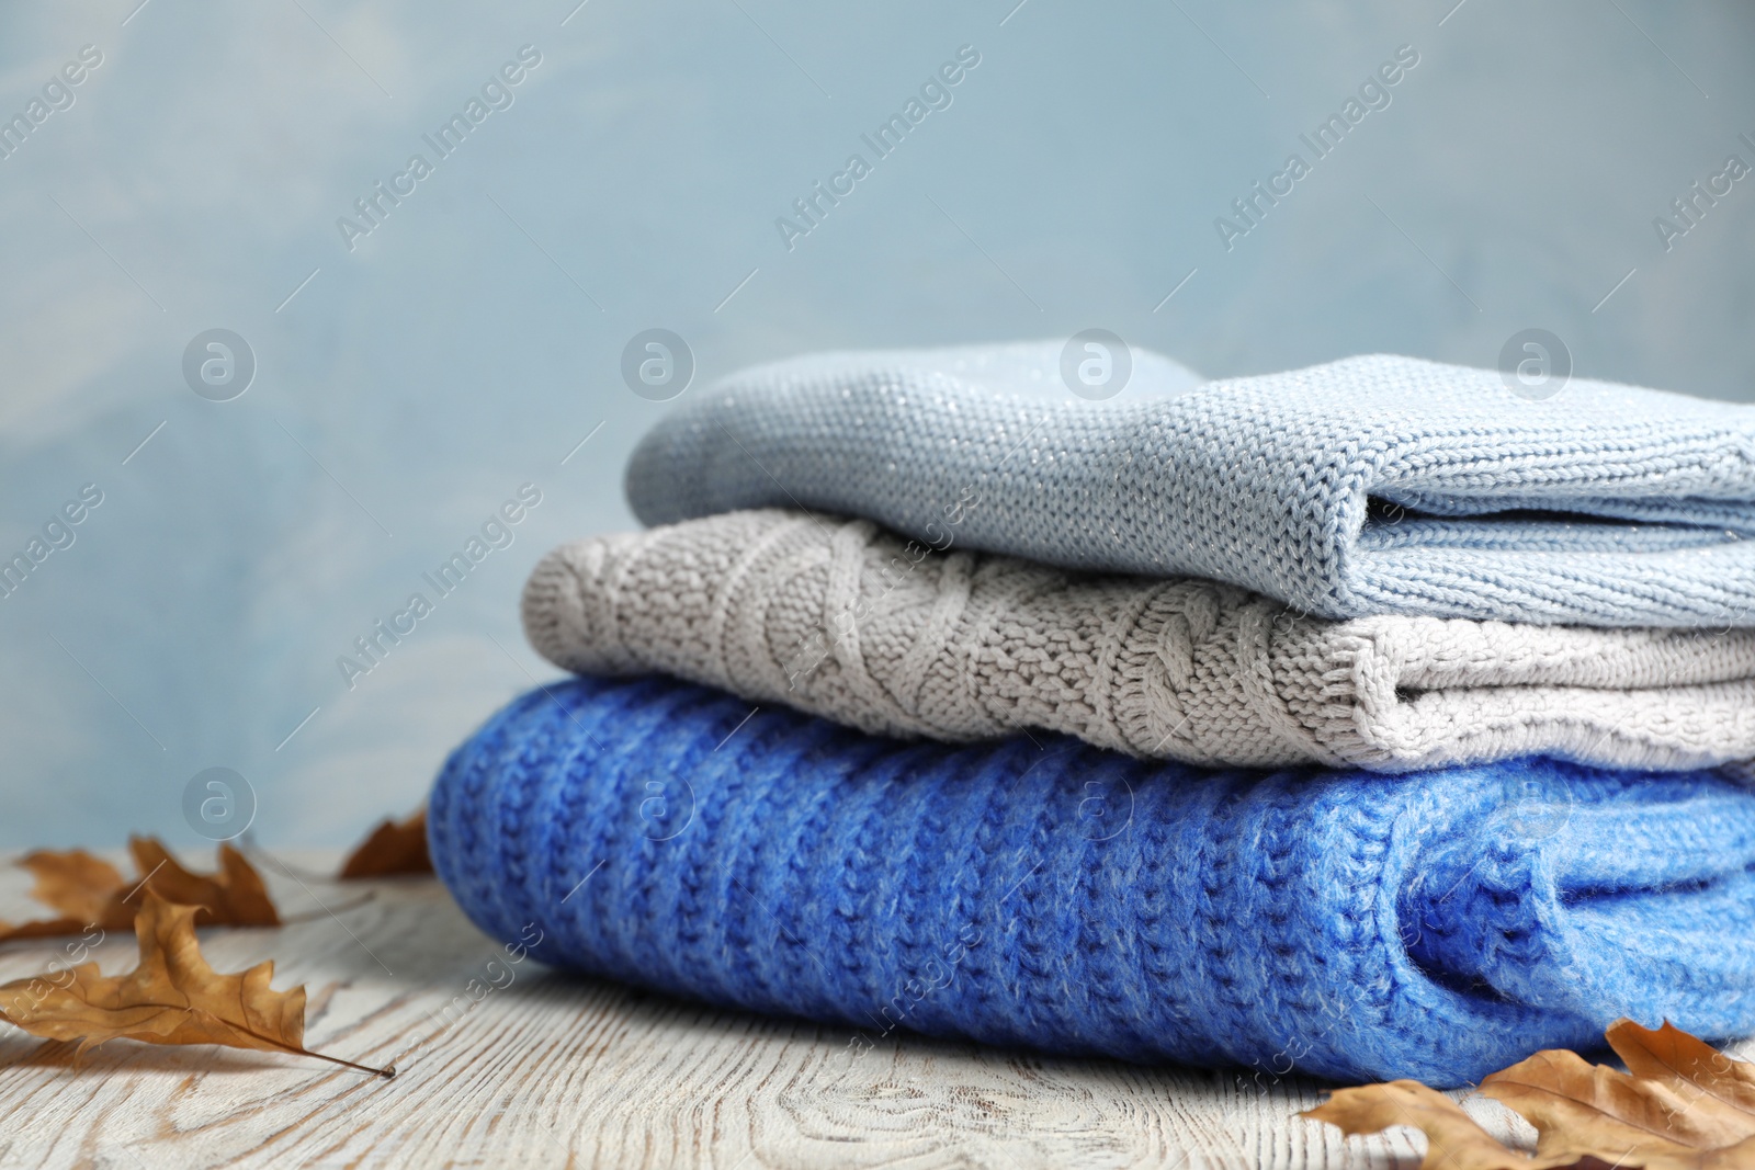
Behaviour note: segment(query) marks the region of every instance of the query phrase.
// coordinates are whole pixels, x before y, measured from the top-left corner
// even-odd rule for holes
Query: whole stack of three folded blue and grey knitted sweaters
[[[1474,1081],[1755,1031],[1755,407],[1408,358],[734,375],[551,553],[430,807],[463,909],[698,1000]],[[1044,372],[1049,377],[1044,377]]]

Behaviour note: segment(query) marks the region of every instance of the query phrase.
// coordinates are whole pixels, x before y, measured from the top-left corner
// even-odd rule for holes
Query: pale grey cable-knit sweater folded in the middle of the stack
[[[1186,763],[1386,772],[1755,758],[1755,630],[1297,619],[1236,586],[934,554],[804,512],[563,546],[523,614],[565,670],[662,670],[881,735],[1042,728]]]

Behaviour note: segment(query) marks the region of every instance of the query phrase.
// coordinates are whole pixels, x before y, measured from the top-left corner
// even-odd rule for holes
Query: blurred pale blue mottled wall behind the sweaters
[[[209,768],[265,844],[412,809],[553,677],[535,558],[634,523],[686,400],[623,381],[644,330],[684,395],[823,347],[1106,328],[1227,377],[1539,328],[1755,398],[1751,54],[1729,0],[7,5],[0,844],[197,842]]]

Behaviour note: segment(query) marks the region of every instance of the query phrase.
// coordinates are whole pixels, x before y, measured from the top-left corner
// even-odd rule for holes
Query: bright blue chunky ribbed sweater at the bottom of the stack
[[[1513,761],[1207,772],[900,744],[662,677],[514,700],[428,838],[544,963],[832,1024],[1455,1086],[1755,1028],[1755,793]]]

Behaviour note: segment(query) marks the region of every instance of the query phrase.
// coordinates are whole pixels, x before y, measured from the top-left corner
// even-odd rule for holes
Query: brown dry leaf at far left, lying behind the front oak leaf
[[[135,881],[84,849],[39,849],[19,865],[37,884],[32,896],[58,910],[60,917],[33,923],[0,923],[0,942],[77,935],[90,926],[128,930],[140,905],[140,891],[154,889],[170,902],[202,907],[212,926],[277,926],[281,916],[269,898],[256,867],[232,845],[219,844],[219,870],[195,874],[154,837],[130,837]]]

